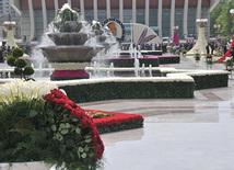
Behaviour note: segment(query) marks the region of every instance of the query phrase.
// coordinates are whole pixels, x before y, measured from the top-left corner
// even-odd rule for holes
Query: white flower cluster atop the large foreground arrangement
[[[16,99],[20,101],[43,99],[52,89],[58,89],[58,87],[50,81],[13,79],[10,82],[0,84],[0,102],[11,103]]]

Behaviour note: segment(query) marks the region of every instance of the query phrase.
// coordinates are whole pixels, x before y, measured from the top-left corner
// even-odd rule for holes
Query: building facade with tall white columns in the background
[[[117,18],[124,23],[142,23],[157,27],[162,38],[173,35],[177,25],[179,38],[197,34],[196,19],[210,19],[220,0],[10,0],[21,15],[22,36],[39,38],[63,3],[80,8],[86,21],[103,22]],[[210,24],[206,26],[209,37]]]

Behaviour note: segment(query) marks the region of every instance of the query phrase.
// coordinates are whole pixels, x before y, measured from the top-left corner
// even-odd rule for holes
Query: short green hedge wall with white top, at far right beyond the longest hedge
[[[207,75],[207,76],[191,76],[195,80],[195,89],[210,89],[229,86],[229,75]]]

